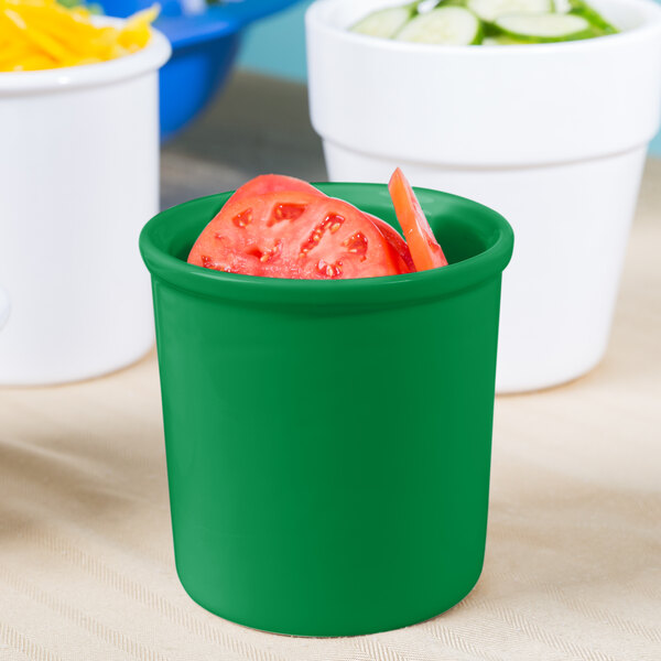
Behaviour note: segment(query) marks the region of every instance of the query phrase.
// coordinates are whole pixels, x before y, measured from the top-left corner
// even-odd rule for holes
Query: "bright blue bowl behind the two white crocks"
[[[172,43],[172,58],[161,69],[161,138],[167,140],[191,122],[220,90],[234,64],[242,31],[297,0],[227,0],[202,14],[184,15],[177,0],[162,2],[155,26]],[[152,0],[102,0],[111,17],[128,17]]]

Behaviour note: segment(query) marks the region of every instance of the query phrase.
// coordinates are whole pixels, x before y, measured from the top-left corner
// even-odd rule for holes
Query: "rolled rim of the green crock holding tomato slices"
[[[381,201],[388,197],[383,184],[319,183],[322,192],[351,204],[355,195]],[[311,306],[383,306],[415,303],[454,295],[484,281],[498,277],[509,263],[514,235],[509,223],[494,209],[465,197],[430,188],[415,187],[423,210],[431,220],[442,218],[442,207],[448,204],[466,210],[462,223],[467,230],[479,232],[487,247],[474,257],[442,269],[381,278],[353,280],[290,280],[239,275],[188,264],[174,252],[175,239],[186,238],[188,247],[197,236],[178,220],[199,215],[205,208],[205,227],[232,192],[209,195],[174,206],[154,216],[140,235],[140,252],[152,277],[193,295],[232,300],[266,305]],[[389,197],[388,197],[389,198]],[[373,207],[356,204],[375,214]],[[214,212],[209,215],[209,208]],[[378,215],[378,214],[377,214]],[[441,216],[440,216],[441,215]]]

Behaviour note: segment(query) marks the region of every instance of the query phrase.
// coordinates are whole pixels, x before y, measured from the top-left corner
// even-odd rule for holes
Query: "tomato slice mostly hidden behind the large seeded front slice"
[[[243,184],[237,192],[229,198],[229,203],[234,203],[246,197],[259,197],[266,193],[278,193],[284,191],[299,191],[301,193],[310,193],[311,195],[319,195],[321,197],[328,197],[325,193],[322,193],[318,188],[304,182],[303,180],[285,176],[282,174],[262,174],[254,177],[248,183]],[[394,261],[398,264],[400,273],[411,273],[415,271],[415,266],[411,259],[411,252],[409,247],[399,232],[388,225],[384,220],[365,214],[381,231],[386,240],[390,243],[394,251]]]

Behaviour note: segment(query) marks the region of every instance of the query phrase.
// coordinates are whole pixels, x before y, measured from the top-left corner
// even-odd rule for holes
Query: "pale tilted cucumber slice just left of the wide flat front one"
[[[394,39],[416,44],[469,46],[481,43],[483,26],[467,9],[441,7],[409,21]]]

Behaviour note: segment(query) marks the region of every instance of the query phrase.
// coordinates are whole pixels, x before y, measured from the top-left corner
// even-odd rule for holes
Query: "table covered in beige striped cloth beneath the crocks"
[[[323,180],[305,90],[240,74],[164,150],[163,204],[260,172]],[[449,613],[369,637],[252,631],[174,570],[154,354],[0,389],[0,660],[661,660],[661,161],[650,161],[604,362],[498,398],[487,555]]]

